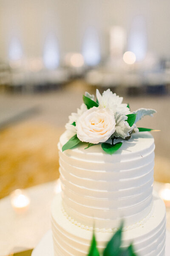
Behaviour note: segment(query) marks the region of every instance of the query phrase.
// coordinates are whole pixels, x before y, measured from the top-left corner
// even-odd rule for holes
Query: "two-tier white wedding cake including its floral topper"
[[[98,248],[124,220],[123,246],[138,256],[164,256],[166,213],[153,191],[152,129],[136,122],[156,111],[130,111],[110,90],[86,93],[60,137],[61,194],[51,207],[54,256],[87,256],[93,232]]]

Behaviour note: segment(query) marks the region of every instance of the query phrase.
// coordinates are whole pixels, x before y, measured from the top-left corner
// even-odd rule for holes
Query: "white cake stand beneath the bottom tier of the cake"
[[[49,230],[41,239],[31,256],[54,256],[52,231]],[[170,231],[167,231],[165,256],[170,256]]]

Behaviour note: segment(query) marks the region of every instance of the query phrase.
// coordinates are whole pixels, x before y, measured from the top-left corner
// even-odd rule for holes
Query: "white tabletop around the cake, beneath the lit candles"
[[[17,213],[10,196],[0,200],[0,256],[34,248],[51,228],[50,206],[56,181],[25,189],[30,198],[27,212]],[[154,182],[159,192],[162,184]],[[170,209],[167,209],[167,229],[170,230]]]

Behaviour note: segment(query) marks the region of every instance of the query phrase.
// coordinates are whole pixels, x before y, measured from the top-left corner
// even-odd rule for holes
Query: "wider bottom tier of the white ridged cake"
[[[71,222],[62,212],[58,194],[51,207],[54,256],[87,256],[93,232]],[[138,256],[164,256],[166,234],[166,210],[164,202],[153,195],[152,215],[144,224],[136,224],[123,232],[123,246],[133,241]],[[97,246],[103,250],[113,233],[96,232]]]

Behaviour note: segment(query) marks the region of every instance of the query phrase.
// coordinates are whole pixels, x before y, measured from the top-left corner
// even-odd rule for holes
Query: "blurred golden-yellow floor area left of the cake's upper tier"
[[[62,130],[21,122],[0,132],[0,198],[59,177],[57,143]]]

